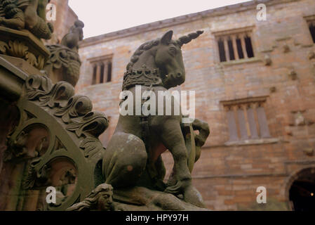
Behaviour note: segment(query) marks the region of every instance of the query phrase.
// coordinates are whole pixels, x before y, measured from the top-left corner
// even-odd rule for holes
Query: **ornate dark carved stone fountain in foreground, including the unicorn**
[[[121,116],[105,149],[98,136],[109,120],[74,92],[83,23],[76,21],[61,44],[44,46],[53,27],[30,2],[0,1],[0,210],[206,210],[191,173],[208,124],[183,124],[182,115]],[[170,31],[142,44],[123,91],[185,82],[181,47],[202,33],[173,40]],[[167,149],[175,166],[166,184],[161,153]],[[55,188],[55,203],[47,203],[47,187]]]

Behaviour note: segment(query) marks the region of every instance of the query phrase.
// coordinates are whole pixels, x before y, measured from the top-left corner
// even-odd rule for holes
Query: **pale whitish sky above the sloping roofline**
[[[84,38],[248,0],[69,0]]]

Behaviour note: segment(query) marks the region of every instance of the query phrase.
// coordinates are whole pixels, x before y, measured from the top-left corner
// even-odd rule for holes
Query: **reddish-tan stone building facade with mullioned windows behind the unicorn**
[[[266,20],[257,19],[257,2]],[[182,48],[187,75],[177,88],[196,91],[196,118],[210,126],[194,185],[210,210],[299,210],[315,193],[314,26],[314,0],[265,0],[91,37],[81,42],[76,92],[109,117],[100,136],[107,146],[135,50],[168,30],[203,30]],[[170,153],[163,160],[170,174]],[[257,203],[258,187],[267,204]]]

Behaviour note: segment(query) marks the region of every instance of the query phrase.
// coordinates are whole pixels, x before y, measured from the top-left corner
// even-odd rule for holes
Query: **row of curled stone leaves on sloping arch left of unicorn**
[[[41,107],[55,109],[52,114],[61,117],[67,131],[74,132],[78,138],[83,136],[90,142],[93,140],[95,147],[102,146],[98,145],[98,136],[107,129],[109,120],[104,113],[91,112],[93,105],[88,97],[74,96],[71,84],[58,82],[53,85],[45,76],[29,77],[26,86],[28,100],[37,101]]]

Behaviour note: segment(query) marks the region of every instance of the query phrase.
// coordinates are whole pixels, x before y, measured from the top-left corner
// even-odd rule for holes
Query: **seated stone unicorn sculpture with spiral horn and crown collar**
[[[182,113],[175,115],[172,110],[171,115],[166,115],[164,107],[163,115],[158,115],[157,109],[156,115],[135,115],[137,105],[133,97],[136,85],[142,88],[141,96],[144,91],[153,91],[158,96],[158,91],[167,91],[184,83],[185,66],[181,47],[202,33],[198,31],[172,40],[173,31],[168,31],[161,39],[142,44],[131,58],[123,78],[123,90],[133,94],[125,98],[133,98],[133,115],[120,115],[102,162],[105,183],[112,185],[114,191],[142,186],[182,195],[185,202],[204,207],[200,193],[192,186],[189,171],[192,168],[189,164],[198,160],[200,152],[191,154],[187,150],[182,131]],[[172,98],[171,102],[174,105],[175,99]],[[191,127],[199,130],[195,136],[199,151],[209,135],[208,124],[195,120]],[[174,159],[168,186],[163,183],[166,170],[161,160],[161,153],[167,149]],[[189,159],[191,155],[194,159]]]

